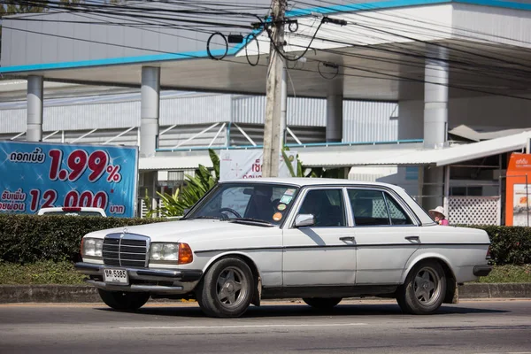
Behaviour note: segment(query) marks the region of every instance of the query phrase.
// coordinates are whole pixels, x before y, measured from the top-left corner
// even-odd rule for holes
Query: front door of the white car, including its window
[[[342,188],[308,189],[298,214],[312,214],[312,227],[283,230],[284,287],[354,285],[356,248]]]

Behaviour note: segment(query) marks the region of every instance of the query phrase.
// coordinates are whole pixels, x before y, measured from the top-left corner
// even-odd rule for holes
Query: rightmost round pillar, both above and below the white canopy
[[[448,135],[448,50],[431,46],[427,48],[427,57],[424,71],[424,80],[427,81],[424,83],[424,147],[442,149]],[[422,200],[425,209],[443,205],[444,183],[443,167],[426,168],[425,197]]]

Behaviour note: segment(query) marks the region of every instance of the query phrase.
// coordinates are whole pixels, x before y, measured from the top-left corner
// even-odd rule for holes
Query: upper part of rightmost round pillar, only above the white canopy
[[[424,147],[442,148],[448,131],[448,51],[428,47],[424,71]],[[437,59],[439,58],[439,59]]]

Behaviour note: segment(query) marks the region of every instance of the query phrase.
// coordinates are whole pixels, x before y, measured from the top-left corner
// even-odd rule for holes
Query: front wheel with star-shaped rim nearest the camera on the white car
[[[253,289],[249,266],[240,258],[223,258],[197,286],[197,303],[207,316],[240,317],[250,305]]]

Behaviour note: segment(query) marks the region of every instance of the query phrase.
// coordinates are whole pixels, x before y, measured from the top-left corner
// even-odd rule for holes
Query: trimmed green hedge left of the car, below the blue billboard
[[[81,237],[112,227],[149,224],[167,219],[120,219],[0,214],[0,261],[77,260]]]

